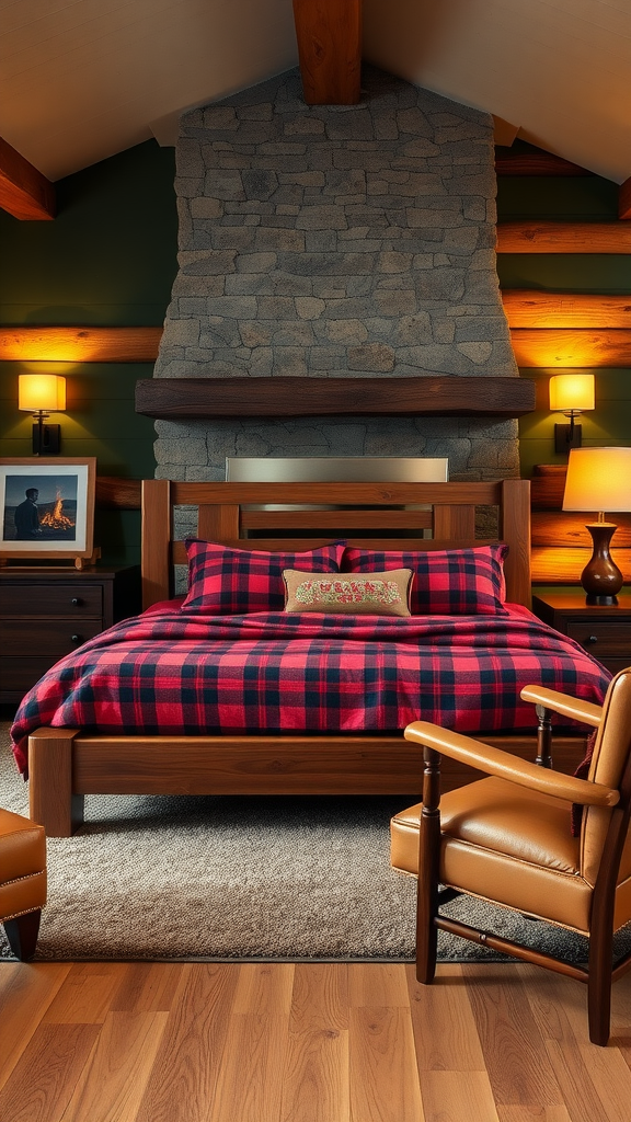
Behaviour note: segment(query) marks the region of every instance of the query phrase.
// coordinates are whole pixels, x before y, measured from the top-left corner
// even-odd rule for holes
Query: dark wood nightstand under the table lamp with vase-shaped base
[[[631,665],[631,590],[618,594],[618,604],[585,604],[585,592],[559,589],[537,592],[532,610],[563,635],[580,643],[612,674]]]

